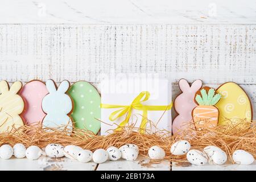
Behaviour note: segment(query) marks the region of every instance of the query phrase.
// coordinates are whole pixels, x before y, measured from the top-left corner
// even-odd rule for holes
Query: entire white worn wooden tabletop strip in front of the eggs
[[[26,158],[9,160],[0,159],[0,171],[205,171],[205,170],[251,170],[256,171],[256,162],[243,166],[238,164],[194,166],[190,163],[173,164],[163,161],[160,163],[150,162],[148,158],[139,156],[134,162],[120,159],[118,161],[107,161],[102,164],[93,162],[80,163],[77,160],[68,158],[52,159],[41,156],[38,160],[28,160]]]

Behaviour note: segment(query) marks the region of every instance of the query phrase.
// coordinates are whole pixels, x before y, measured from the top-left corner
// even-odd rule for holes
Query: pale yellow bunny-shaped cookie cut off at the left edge
[[[22,82],[16,81],[9,89],[8,82],[0,82],[0,133],[11,131],[13,126],[17,129],[23,126],[19,114],[24,109],[24,101],[17,93],[22,88]]]

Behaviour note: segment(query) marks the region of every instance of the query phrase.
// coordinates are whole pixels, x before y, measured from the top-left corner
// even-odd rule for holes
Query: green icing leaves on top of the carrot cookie
[[[200,92],[202,96],[196,94],[195,98],[199,105],[213,106],[216,105],[218,101],[220,101],[221,94],[215,94],[215,90],[213,88],[210,88],[208,93],[204,88],[201,89]]]

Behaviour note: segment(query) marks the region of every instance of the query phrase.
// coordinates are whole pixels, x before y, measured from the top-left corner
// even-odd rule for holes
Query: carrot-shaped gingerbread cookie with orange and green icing
[[[196,93],[195,101],[198,106],[192,111],[193,121],[198,130],[204,127],[216,127],[218,124],[218,108],[214,105],[220,101],[221,95],[213,88],[205,86]]]

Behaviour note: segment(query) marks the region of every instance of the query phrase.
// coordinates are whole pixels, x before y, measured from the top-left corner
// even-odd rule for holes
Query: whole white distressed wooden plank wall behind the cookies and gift
[[[111,71],[166,76],[173,98],[180,78],[215,87],[234,81],[255,119],[256,1],[0,1],[0,80],[97,85]]]

